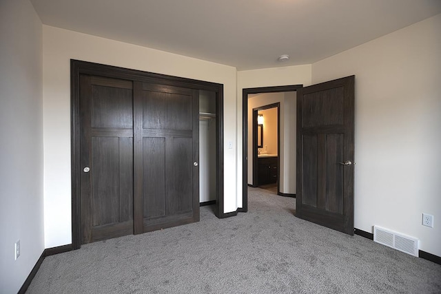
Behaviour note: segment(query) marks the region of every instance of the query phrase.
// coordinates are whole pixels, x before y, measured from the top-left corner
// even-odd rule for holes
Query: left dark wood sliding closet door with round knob
[[[81,244],[133,233],[132,81],[80,76]]]

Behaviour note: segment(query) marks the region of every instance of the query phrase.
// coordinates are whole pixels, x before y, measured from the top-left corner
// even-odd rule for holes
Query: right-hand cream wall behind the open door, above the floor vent
[[[441,14],[312,65],[356,75],[355,227],[393,229],[441,256]],[[422,213],[435,216],[423,227]]]

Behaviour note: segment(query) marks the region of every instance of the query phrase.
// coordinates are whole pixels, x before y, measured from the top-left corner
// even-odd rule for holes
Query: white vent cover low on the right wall
[[[373,241],[418,257],[419,240],[382,227],[373,226]]]

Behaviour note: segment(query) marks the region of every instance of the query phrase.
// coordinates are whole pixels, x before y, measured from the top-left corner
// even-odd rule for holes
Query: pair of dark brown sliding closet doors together
[[[79,85],[81,244],[198,221],[198,90]]]

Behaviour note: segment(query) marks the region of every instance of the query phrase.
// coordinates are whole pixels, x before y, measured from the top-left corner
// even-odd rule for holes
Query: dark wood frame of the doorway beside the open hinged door
[[[254,87],[242,90],[242,207],[240,212],[248,211],[248,95],[278,92],[296,92],[303,85]]]

